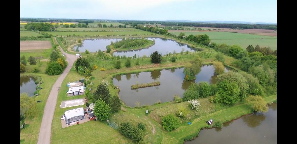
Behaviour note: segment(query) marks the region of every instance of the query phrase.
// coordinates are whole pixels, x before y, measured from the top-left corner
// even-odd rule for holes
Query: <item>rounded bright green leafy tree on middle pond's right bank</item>
[[[226,105],[233,105],[240,100],[239,88],[235,82],[227,80],[217,83],[218,91],[214,95],[216,103],[224,103]]]

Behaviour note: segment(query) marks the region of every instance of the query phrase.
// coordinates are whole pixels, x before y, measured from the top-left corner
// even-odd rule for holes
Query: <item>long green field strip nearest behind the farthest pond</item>
[[[79,36],[107,36],[107,35],[151,35],[154,33],[148,31],[76,31],[76,32],[47,32],[48,34],[52,34],[53,36],[67,36],[67,35],[79,35]]]

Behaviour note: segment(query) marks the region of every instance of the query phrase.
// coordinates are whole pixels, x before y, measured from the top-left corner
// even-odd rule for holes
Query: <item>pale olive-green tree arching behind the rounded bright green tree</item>
[[[238,72],[229,71],[228,73],[223,73],[217,76],[217,83],[222,81],[228,81],[229,83],[234,82],[238,88],[240,89],[240,98],[244,100],[247,96],[247,89],[249,88],[249,84],[247,84],[247,79],[244,78]],[[219,85],[217,85],[219,87]]]

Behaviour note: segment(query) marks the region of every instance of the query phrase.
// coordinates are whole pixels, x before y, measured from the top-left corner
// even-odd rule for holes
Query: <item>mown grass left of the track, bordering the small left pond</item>
[[[34,99],[41,100],[41,103],[37,103],[37,114],[33,118],[26,118],[25,123],[26,126],[24,129],[20,132],[20,139],[23,140],[23,144],[32,144],[37,143],[38,134],[41,126],[42,116],[43,116],[43,110],[45,107],[45,103],[48,99],[48,95],[50,94],[50,91],[53,87],[53,84],[58,79],[58,76],[48,76],[46,74],[37,74],[37,73],[23,73],[20,74],[20,77],[25,76],[40,76],[42,78],[42,84],[40,89],[40,95],[35,97]]]

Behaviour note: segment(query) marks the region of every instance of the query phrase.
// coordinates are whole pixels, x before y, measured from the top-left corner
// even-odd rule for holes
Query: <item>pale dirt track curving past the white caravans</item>
[[[66,56],[66,61],[68,62],[68,65],[63,71],[63,73],[60,75],[60,77],[57,79],[55,84],[53,85],[53,88],[50,91],[50,95],[48,96],[48,100],[45,104],[45,108],[43,112],[37,144],[50,144],[51,126],[52,126],[53,116],[54,116],[54,112],[57,104],[58,92],[61,87],[62,81],[69,73],[69,70],[71,69],[75,60],[78,58],[75,55],[70,55],[65,53],[60,46],[59,48],[61,52]]]

